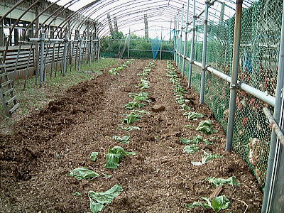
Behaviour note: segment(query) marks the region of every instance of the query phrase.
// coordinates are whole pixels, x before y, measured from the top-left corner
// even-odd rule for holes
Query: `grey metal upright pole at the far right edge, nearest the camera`
[[[282,11],[282,27],[281,27],[281,37],[280,37],[280,53],[279,53],[279,62],[278,62],[278,77],[277,77],[277,87],[275,94],[275,107],[273,118],[276,123],[279,124],[280,114],[282,108],[281,99],[283,98],[283,86],[284,86],[284,4]],[[271,135],[271,148],[268,158],[268,170],[266,173],[266,185],[264,187],[263,193],[263,204],[261,212],[271,212],[271,202],[273,201],[273,190],[274,190],[274,180],[275,175],[277,175],[277,170],[275,170],[275,150],[277,150],[278,141],[277,135],[274,130],[272,130]]]

